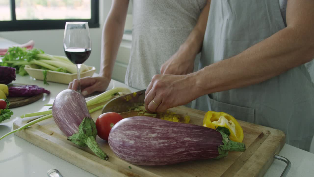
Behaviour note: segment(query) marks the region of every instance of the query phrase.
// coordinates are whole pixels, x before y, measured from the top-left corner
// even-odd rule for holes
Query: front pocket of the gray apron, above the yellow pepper
[[[242,120],[254,123],[254,109],[242,106],[231,105],[223,102],[216,101],[209,98],[212,111],[225,112],[230,114],[237,120]]]

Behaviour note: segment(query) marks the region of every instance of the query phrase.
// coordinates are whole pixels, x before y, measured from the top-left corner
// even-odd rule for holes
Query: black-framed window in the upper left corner
[[[1,0],[0,31],[64,29],[67,21],[99,27],[99,0]]]

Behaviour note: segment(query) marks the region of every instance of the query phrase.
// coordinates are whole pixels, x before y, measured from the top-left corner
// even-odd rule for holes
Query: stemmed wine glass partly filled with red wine
[[[78,76],[77,91],[81,93],[80,68],[92,51],[88,22],[65,23],[63,49],[68,59],[76,64]]]

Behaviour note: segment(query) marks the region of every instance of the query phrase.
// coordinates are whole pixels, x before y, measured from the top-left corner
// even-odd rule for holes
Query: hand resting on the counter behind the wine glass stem
[[[80,79],[82,95],[86,96],[95,91],[103,92],[107,89],[110,78],[107,77],[83,77]],[[68,89],[77,91],[78,79],[74,79],[69,83]]]

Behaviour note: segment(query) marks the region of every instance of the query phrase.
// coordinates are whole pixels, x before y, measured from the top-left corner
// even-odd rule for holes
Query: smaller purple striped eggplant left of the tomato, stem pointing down
[[[81,147],[88,146],[98,157],[108,160],[95,140],[96,125],[83,95],[71,89],[60,92],[53,102],[52,116],[69,141]]]

